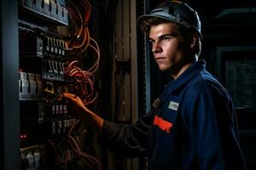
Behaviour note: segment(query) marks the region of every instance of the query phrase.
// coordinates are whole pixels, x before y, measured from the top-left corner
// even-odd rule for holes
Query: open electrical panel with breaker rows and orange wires
[[[88,107],[96,101],[100,51],[89,34],[90,12],[87,0],[20,0],[21,169],[101,168],[93,144],[83,147],[93,133],[79,132],[87,128],[58,99],[67,92]]]

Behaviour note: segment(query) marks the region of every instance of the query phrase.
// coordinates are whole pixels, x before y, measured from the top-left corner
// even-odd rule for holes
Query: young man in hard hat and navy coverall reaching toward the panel
[[[174,80],[154,110],[136,124],[121,125],[89,111],[79,97],[62,94],[78,117],[123,156],[148,156],[149,170],[246,169],[235,110],[224,87],[205,70],[201,22],[186,3],[169,1],[138,18],[160,71]],[[156,103],[155,103],[156,104]]]

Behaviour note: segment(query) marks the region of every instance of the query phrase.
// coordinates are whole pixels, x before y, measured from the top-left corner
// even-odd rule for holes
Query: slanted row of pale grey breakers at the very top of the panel
[[[57,0],[21,0],[21,5],[32,12],[68,25],[67,8]]]

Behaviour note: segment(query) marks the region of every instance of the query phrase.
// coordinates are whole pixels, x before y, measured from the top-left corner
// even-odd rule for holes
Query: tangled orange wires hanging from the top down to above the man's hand
[[[100,48],[97,42],[90,37],[88,30],[91,6],[88,0],[68,0],[67,11],[71,19],[72,27],[75,28],[73,34],[75,36],[66,42],[67,48],[72,49],[73,54],[83,54],[88,47],[96,53],[96,62],[88,71],[83,71],[79,68],[78,60],[74,60],[65,68],[66,75],[73,77],[75,82],[78,82],[78,86],[76,87],[78,90],[77,94],[83,100],[84,105],[90,105],[97,97],[97,92],[94,93],[94,73],[98,69],[100,60]]]

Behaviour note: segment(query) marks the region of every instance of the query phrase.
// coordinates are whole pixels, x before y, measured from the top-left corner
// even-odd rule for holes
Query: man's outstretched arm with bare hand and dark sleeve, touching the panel
[[[148,133],[153,121],[153,112],[142,116],[137,123],[120,124],[103,120],[84,106],[75,94],[64,93],[60,99],[67,100],[69,111],[81,121],[88,123],[101,134],[102,145],[117,151],[122,156],[145,156],[148,149]]]

